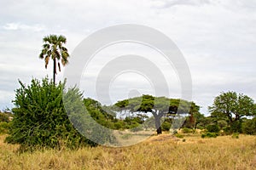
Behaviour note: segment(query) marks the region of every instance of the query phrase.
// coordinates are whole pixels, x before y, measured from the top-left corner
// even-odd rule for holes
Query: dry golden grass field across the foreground
[[[153,136],[122,148],[98,146],[79,150],[38,150],[19,153],[18,145],[3,143],[0,136],[0,169],[256,169],[256,136],[239,139],[220,136],[201,139],[199,134],[177,139],[170,134]]]

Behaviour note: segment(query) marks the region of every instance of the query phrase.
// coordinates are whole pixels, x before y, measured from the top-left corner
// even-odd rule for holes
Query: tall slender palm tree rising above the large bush
[[[55,74],[57,74],[56,64],[58,63],[59,71],[61,71],[61,64],[65,66],[68,63],[67,58],[69,57],[69,54],[67,52],[67,48],[62,46],[67,42],[67,39],[64,36],[49,35],[47,37],[44,37],[43,42],[44,45],[42,52],[39,55],[39,58],[44,59],[45,69],[47,69],[49,59],[53,59],[53,80],[55,84]]]

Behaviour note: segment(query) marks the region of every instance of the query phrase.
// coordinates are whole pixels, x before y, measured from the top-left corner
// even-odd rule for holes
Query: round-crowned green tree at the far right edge
[[[218,95],[212,106],[209,107],[212,116],[218,119],[228,118],[232,130],[241,132],[241,118],[255,116],[256,108],[252,98],[236,92],[227,92]]]

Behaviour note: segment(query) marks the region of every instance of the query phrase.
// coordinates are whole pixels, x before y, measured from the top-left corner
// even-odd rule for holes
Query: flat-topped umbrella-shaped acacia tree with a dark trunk
[[[193,115],[195,111],[199,111],[199,106],[195,105],[194,102],[183,99],[153,97],[151,95],[121,100],[115,106],[117,107],[116,111],[125,111],[125,113],[152,113],[157,134],[162,133],[160,125],[163,116],[174,116],[176,114]]]

